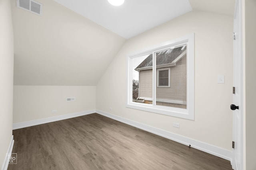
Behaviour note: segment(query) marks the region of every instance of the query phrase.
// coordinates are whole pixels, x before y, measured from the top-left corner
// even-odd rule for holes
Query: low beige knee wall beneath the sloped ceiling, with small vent
[[[95,91],[95,86],[14,86],[13,123],[95,109]],[[76,101],[66,102],[68,97]]]

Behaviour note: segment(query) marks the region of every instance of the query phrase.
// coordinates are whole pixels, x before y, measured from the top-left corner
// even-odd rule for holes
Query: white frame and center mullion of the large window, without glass
[[[156,105],[156,69],[153,70],[153,92],[152,99],[154,99],[153,104],[144,104],[138,102],[132,102],[132,59],[136,57],[142,57],[145,55],[153,54],[156,57],[156,52],[162,51],[168,48],[175,48],[180,45],[187,45],[187,101],[186,109],[178,107],[168,107],[168,106],[158,106]],[[153,59],[153,66],[155,67],[155,59]],[[194,33],[167,41],[133,53],[127,56],[127,86],[126,86],[126,107],[132,109],[138,109],[143,111],[148,111],[152,113],[159,113],[164,115],[170,115],[174,117],[180,117],[184,119],[194,120]]]

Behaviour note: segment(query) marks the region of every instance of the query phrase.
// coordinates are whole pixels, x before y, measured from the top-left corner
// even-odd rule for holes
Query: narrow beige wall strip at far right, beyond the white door
[[[245,0],[246,170],[256,169],[256,1]]]

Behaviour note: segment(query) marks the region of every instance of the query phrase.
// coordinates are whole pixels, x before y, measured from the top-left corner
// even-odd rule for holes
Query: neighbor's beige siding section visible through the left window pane
[[[152,70],[140,71],[139,97],[152,98]]]

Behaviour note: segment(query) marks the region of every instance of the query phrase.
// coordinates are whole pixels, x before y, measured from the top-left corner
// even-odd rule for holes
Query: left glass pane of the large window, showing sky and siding
[[[132,101],[152,104],[152,54],[132,59]]]

